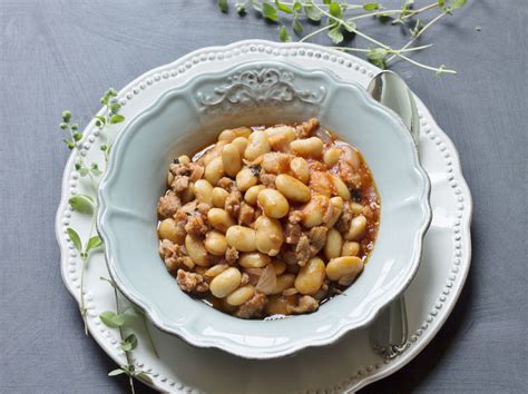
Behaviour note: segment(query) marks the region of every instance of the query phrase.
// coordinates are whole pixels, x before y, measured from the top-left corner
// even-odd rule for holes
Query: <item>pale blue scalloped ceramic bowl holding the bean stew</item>
[[[239,319],[190,298],[157,252],[156,204],[169,162],[224,128],[310,117],[356,146],[377,181],[381,225],[363,274],[316,313],[276,321]],[[196,346],[271,358],[333,343],[371,323],[405,289],[431,219],[429,191],[409,131],[363,88],[327,70],[248,62],[164,92],[126,126],[100,184],[98,228],[116,285],[157,327]]]

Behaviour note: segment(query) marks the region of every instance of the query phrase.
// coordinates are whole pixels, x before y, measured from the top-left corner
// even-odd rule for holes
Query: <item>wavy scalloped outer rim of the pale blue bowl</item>
[[[335,324],[335,326],[332,327],[331,331],[329,329],[327,332],[323,333],[314,332],[311,335],[306,335],[300,338],[292,338],[286,344],[270,345],[267,347],[253,347],[250,345],[242,346],[239,343],[231,339],[229,336],[206,336],[199,333],[198,331],[192,329],[188,326],[188,322],[180,325],[170,325],[170,322],[168,322],[166,318],[164,318],[164,316],[162,316],[162,314],[158,313],[159,308],[156,307],[155,304],[153,304],[148,299],[145,299],[145,297],[141,297],[137,290],[129,288],[129,286],[123,283],[119,272],[116,267],[115,257],[113,257],[113,242],[117,242],[117,239],[115,234],[113,237],[111,232],[109,233],[109,229],[105,228],[105,223],[108,223],[107,216],[109,215],[109,211],[111,211],[113,206],[111,204],[109,204],[110,197],[108,195],[109,191],[107,191],[107,189],[111,187],[111,184],[115,181],[115,178],[117,176],[116,162],[119,160],[119,152],[121,155],[124,154],[124,148],[120,146],[120,144],[126,142],[126,138],[129,136],[130,132],[135,130],[136,125],[140,124],[144,119],[151,117],[153,114],[155,114],[160,107],[163,107],[163,105],[167,102],[172,97],[185,92],[187,89],[189,89],[189,87],[197,86],[203,80],[221,80],[226,76],[236,75],[237,72],[239,72],[239,70],[246,70],[252,68],[258,69],[263,66],[275,67],[277,69],[281,68],[286,71],[295,72],[296,75],[303,75],[304,77],[319,75],[320,78],[322,78],[323,80],[325,79],[326,81],[331,81],[333,86],[348,89],[352,88],[356,92],[359,92],[359,97],[362,102],[364,102],[371,108],[375,108],[379,111],[384,112],[392,121],[394,121],[399,128],[397,131],[400,134],[399,138],[403,138],[405,142],[411,147],[412,158],[409,158],[409,173],[417,173],[417,178],[419,179],[419,184],[415,190],[415,196],[418,198],[412,204],[412,206],[414,207],[413,209],[420,210],[421,217],[417,221],[417,228],[413,228],[412,232],[413,247],[411,253],[411,259],[404,268],[404,275],[402,275],[401,279],[399,279],[399,282],[394,284],[389,290],[372,298],[369,307],[365,307],[365,311],[364,313],[362,313],[361,317],[351,318],[345,315]],[[412,139],[410,132],[405,129],[405,126],[403,125],[402,120],[392,110],[375,101],[372,97],[370,97],[370,95],[366,93],[363,87],[361,87],[355,81],[345,81],[336,77],[333,72],[327,72],[327,70],[325,69],[304,68],[297,65],[287,63],[285,61],[267,60],[242,62],[229,70],[209,71],[193,76],[186,81],[185,86],[178,86],[164,90],[154,100],[154,102],[151,102],[147,108],[140,110],[133,119],[130,119],[119,132],[119,135],[116,137],[113,151],[115,152],[115,155],[110,157],[108,168],[100,180],[97,195],[99,205],[99,210],[97,215],[97,230],[106,245],[105,259],[108,267],[108,272],[110,273],[111,278],[114,279],[116,286],[119,288],[121,294],[133,304],[144,311],[149,317],[150,322],[158,329],[172,335],[176,335],[193,346],[203,348],[219,348],[222,351],[244,358],[264,359],[286,356],[307,347],[324,346],[335,343],[346,333],[365,327],[371,324],[384,307],[387,307],[393,299],[395,299],[400,294],[405,290],[405,288],[414,278],[420,266],[423,237],[431,223],[432,213],[430,205],[431,185],[429,176],[427,175],[420,162],[415,142]],[[194,316],[196,316],[196,314]]]

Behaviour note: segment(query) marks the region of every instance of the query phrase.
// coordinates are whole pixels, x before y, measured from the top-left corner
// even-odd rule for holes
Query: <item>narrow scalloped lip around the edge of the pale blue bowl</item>
[[[423,214],[423,218],[421,221],[421,226],[415,229],[414,236],[413,236],[413,248],[415,253],[413,254],[414,258],[412,258],[409,262],[409,270],[408,274],[405,275],[404,280],[399,283],[399,288],[397,292],[392,292],[389,297],[379,297],[378,298],[378,305],[374,307],[370,308],[368,311],[368,314],[363,317],[363,319],[359,323],[354,322],[342,322],[340,323],[339,327],[336,329],[333,329],[330,333],[325,333],[326,335],[311,335],[306,336],[303,339],[292,342],[289,344],[287,347],[284,347],[282,349],[277,351],[272,351],[270,352],[268,349],[265,351],[264,348],[250,348],[250,347],[243,347],[238,344],[236,346],[233,346],[235,343],[229,342],[229,341],[221,341],[218,337],[206,337],[204,335],[196,335],[192,331],[187,329],[182,329],[180,327],[177,327],[177,329],[168,327],[165,323],[164,319],[160,318],[156,312],[154,312],[151,305],[148,305],[148,301],[144,302],[140,297],[137,295],[134,295],[127,287],[120,282],[119,275],[115,270],[114,263],[113,263],[113,257],[110,255],[110,237],[106,234],[106,230],[104,229],[102,223],[105,221],[105,217],[108,213],[108,207],[106,205],[105,200],[105,187],[108,185],[108,181],[110,180],[114,168],[116,167],[114,161],[116,155],[111,155],[110,159],[108,161],[108,169],[105,171],[100,184],[99,188],[97,190],[97,201],[99,206],[99,210],[97,213],[97,219],[96,219],[96,228],[97,233],[104,240],[104,244],[106,245],[104,249],[104,256],[105,256],[105,262],[108,268],[108,273],[117,287],[117,289],[121,293],[125,298],[127,298],[131,304],[134,304],[136,307],[138,307],[146,316],[148,316],[149,321],[162,332],[177,336],[178,338],[183,339],[189,345],[201,347],[201,348],[218,348],[224,352],[227,352],[229,354],[233,354],[235,356],[239,356],[243,358],[250,358],[250,359],[268,359],[268,358],[277,358],[277,357],[283,357],[287,356],[291,354],[294,354],[296,352],[300,352],[304,348],[307,347],[319,347],[319,346],[324,346],[329,345],[332,343],[335,343],[339,341],[343,335],[346,335],[348,333],[364,328],[365,326],[370,325],[383,311],[391,302],[397,299],[403,292],[407,289],[407,287],[410,285],[412,279],[418,273],[418,268],[420,266],[421,257],[422,257],[422,252],[423,252],[423,238],[426,236],[426,233],[431,224],[432,220],[432,210],[431,210],[431,204],[430,204],[430,196],[431,196],[431,183],[429,179],[428,174],[423,169],[421,162],[420,162],[420,156],[418,152],[418,147],[412,138],[411,134],[409,130],[405,128],[403,125],[402,120],[400,117],[390,108],[381,105],[380,102],[375,101],[368,92],[365,89],[358,83],[356,81],[351,81],[351,80],[344,80],[340,77],[338,77],[333,71],[327,70],[323,67],[301,67],[297,65],[293,65],[291,62],[284,61],[284,60],[266,60],[266,61],[261,61],[261,60],[248,60],[248,61],[243,61],[239,63],[236,63],[234,67],[229,69],[223,69],[223,70],[215,70],[215,71],[207,71],[207,72],[201,72],[194,77],[190,77],[188,80],[186,80],[183,85],[178,85],[177,87],[173,87],[169,89],[166,89],[162,91],[157,98],[150,102],[145,109],[139,110],[138,114],[131,118],[125,127],[120,130],[120,132],[117,135],[115,141],[114,141],[114,147],[119,144],[121,139],[125,138],[127,132],[130,129],[134,129],[134,126],[136,122],[139,122],[143,118],[148,117],[150,112],[155,111],[158,106],[168,97],[173,95],[178,95],[182,93],[183,90],[186,89],[187,86],[196,83],[203,79],[208,79],[208,78],[221,78],[222,76],[225,76],[226,73],[232,75],[235,73],[236,70],[239,70],[244,67],[248,66],[255,66],[257,68],[265,66],[276,66],[276,67],[285,67],[290,69],[294,69],[295,72],[300,73],[312,73],[312,72],[323,72],[327,78],[332,80],[333,83],[336,86],[341,87],[354,87],[358,91],[360,91],[360,95],[363,96],[365,99],[366,104],[369,106],[375,107],[380,109],[381,111],[384,111],[387,115],[389,115],[393,121],[395,121],[399,127],[402,129],[401,132],[402,138],[407,139],[408,142],[411,146],[412,149],[412,156],[413,156],[413,167],[412,169],[418,170],[420,178],[422,180],[422,189],[419,190],[419,203],[418,205],[421,207],[421,211]],[[381,299],[381,301],[380,301]],[[289,318],[290,319],[290,318]],[[309,338],[310,341],[306,341]]]

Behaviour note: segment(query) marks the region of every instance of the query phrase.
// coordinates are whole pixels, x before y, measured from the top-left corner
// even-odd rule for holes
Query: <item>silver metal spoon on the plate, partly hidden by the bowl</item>
[[[374,100],[392,109],[411,132],[418,147],[420,122],[418,108],[407,83],[392,71],[381,71],[370,81],[366,91]],[[409,337],[405,299],[394,299],[371,326],[372,347],[387,358],[395,357],[405,348]]]

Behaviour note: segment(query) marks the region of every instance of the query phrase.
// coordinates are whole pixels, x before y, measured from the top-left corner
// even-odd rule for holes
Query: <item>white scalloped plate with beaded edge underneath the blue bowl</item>
[[[363,86],[378,71],[361,59],[319,46],[241,41],[227,47],[205,48],[146,72],[121,90],[121,114],[133,119],[160,92],[184,83],[196,73],[260,59],[327,68],[341,78]],[[336,344],[309,348],[290,357],[248,361],[216,349],[193,347],[149,324],[159,353],[157,357],[148,345],[143,323],[133,318],[131,324],[139,338],[139,346],[134,351],[135,362],[139,368],[151,373],[155,388],[221,393],[349,392],[394,373],[426,347],[451,313],[469,270],[471,196],[454,146],[426,106],[417,101],[423,131],[419,150],[431,179],[433,218],[424,239],[422,264],[405,290],[411,333],[407,348],[393,359],[383,359],[372,351],[369,329],[364,328],[344,336]],[[91,122],[85,130],[81,151],[88,162],[100,157],[99,135],[94,126]],[[119,126],[123,128],[124,125]],[[74,226],[81,237],[86,237],[91,223],[89,218],[74,213],[67,203],[71,195],[84,193],[87,188],[74,168],[75,161],[74,154],[65,169],[56,230],[61,249],[62,277],[68,290],[79,302],[81,265],[66,228]],[[108,273],[102,254],[97,253],[90,259],[85,277],[88,328],[105,352],[123,364],[125,356],[118,348],[117,331],[108,329],[98,318],[101,312],[115,308],[113,289],[99,279],[100,276],[108,276]]]

